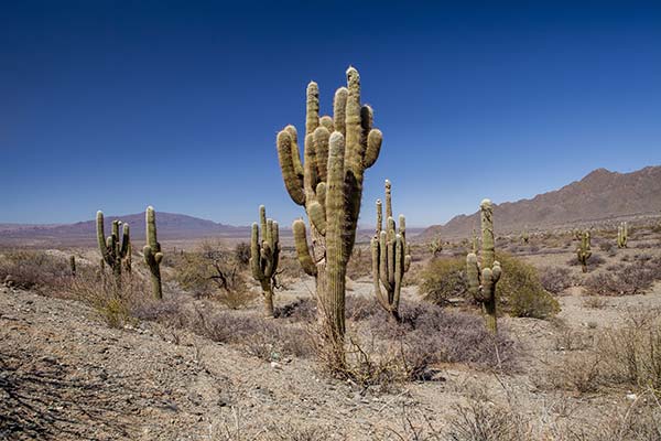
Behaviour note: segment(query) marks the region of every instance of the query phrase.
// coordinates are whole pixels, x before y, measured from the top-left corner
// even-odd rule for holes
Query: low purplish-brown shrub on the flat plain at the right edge
[[[584,287],[593,295],[632,295],[650,289],[661,278],[661,259],[639,260],[615,265],[606,271],[589,276]]]

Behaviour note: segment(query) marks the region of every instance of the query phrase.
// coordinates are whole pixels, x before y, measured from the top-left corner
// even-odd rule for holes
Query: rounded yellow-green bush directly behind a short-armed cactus
[[[498,252],[497,259],[502,267],[497,286],[500,311],[534,319],[546,319],[560,311],[560,304],[544,290],[532,265],[506,252]],[[444,304],[453,297],[469,298],[465,271],[465,257],[432,260],[421,275],[423,298],[436,304]]]

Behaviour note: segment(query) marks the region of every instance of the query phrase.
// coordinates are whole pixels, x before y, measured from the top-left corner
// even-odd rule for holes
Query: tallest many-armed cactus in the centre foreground
[[[305,207],[293,224],[301,266],[316,279],[319,312],[340,342],[345,332],[345,276],[356,240],[362,179],[379,155],[382,135],[372,129],[371,107],[360,105],[360,77],[347,69],[347,87],[335,93],[334,116],[319,118],[317,84],[307,86],[304,161],[297,133],[286,126],[278,133],[278,158],[284,185],[294,203]],[[308,245],[311,244],[311,245]]]

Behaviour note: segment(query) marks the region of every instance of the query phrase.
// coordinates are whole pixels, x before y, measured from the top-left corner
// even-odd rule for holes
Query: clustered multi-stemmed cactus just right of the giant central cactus
[[[399,232],[392,217],[390,181],[386,180],[386,229],[382,229],[382,206],[377,201],[377,234],[371,239],[372,278],[375,293],[381,306],[400,321],[399,301],[404,272],[411,267],[411,255],[407,245],[407,219],[399,216]],[[383,291],[381,290],[383,287]]]

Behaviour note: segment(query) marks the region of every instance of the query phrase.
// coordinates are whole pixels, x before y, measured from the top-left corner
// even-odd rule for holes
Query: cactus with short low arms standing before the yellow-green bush
[[[496,333],[498,332],[496,283],[498,283],[502,270],[500,263],[495,260],[494,207],[491,201],[484,200],[479,208],[483,234],[481,263],[478,263],[476,252],[468,254],[466,256],[466,275],[468,277],[468,291],[475,300],[483,304],[487,329]]]

